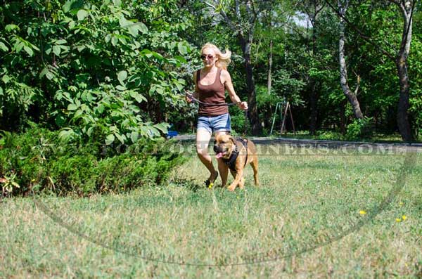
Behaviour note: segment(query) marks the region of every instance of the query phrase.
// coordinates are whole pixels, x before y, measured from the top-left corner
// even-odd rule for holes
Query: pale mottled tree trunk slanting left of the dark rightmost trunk
[[[338,1],[338,8],[340,13],[344,16],[345,11],[347,10],[348,1],[346,1],[345,6]],[[359,100],[357,100],[357,91],[359,89],[359,77],[357,82],[356,91],[352,92],[350,90],[349,84],[347,83],[347,65],[345,60],[345,25],[343,17],[340,18],[340,39],[338,40],[338,58],[340,63],[340,86],[343,90],[343,93],[349,100],[350,105],[352,105],[354,117],[357,119],[364,118],[362,111],[360,109]]]

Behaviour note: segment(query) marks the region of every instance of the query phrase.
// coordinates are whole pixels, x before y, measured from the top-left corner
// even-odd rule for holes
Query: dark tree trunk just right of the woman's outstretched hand
[[[242,34],[238,35],[238,41],[241,45],[243,58],[245,59],[246,70],[246,85],[248,86],[248,107],[249,119],[252,125],[252,135],[258,136],[262,134],[262,126],[260,124],[260,117],[257,110],[257,97],[255,92],[255,79],[253,78],[252,65],[250,64],[250,44],[251,41],[246,41]]]

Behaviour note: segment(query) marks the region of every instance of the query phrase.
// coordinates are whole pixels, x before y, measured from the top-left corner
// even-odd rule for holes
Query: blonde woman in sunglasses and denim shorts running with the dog
[[[248,110],[248,103],[241,102],[236,95],[231,77],[227,72],[227,66],[230,63],[231,52],[226,49],[222,53],[214,44],[205,44],[201,49],[200,58],[203,60],[204,67],[193,73],[193,81],[195,82],[195,93],[193,98],[199,99],[207,104],[225,103],[225,91],[229,92],[229,96],[233,103],[236,103],[242,110]],[[190,103],[191,98],[186,100]],[[212,157],[208,154],[208,144],[212,133],[214,136],[218,134],[230,134],[230,115],[226,105],[199,105],[198,124],[196,129],[196,152],[205,167],[210,171],[210,177],[205,181],[207,187],[212,187],[215,179],[217,179],[218,171],[212,164]],[[217,158],[220,176],[227,177],[222,173],[227,171],[222,167],[224,162],[221,158]],[[222,181],[223,185],[226,181]]]

